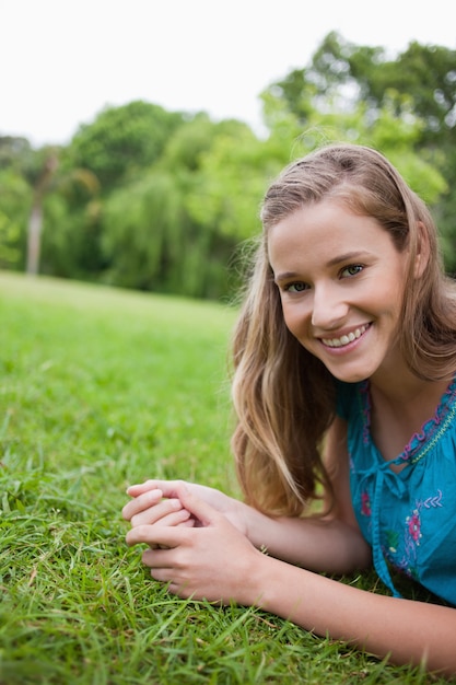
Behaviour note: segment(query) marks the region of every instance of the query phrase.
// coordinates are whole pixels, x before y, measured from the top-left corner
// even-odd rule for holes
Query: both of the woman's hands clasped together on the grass
[[[132,499],[122,516],[132,527],[126,539],[148,545],[142,562],[154,580],[185,599],[255,601],[254,569],[262,555],[247,537],[242,502],[180,480],[147,480],[127,494]]]

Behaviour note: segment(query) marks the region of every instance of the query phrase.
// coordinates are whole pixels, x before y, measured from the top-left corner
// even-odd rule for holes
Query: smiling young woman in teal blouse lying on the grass
[[[455,674],[456,290],[433,221],[382,154],[350,144],[287,167],[261,219],[234,336],[245,501],[147,480],[128,489],[127,542],[182,597]],[[372,562],[393,596],[319,574]],[[400,597],[391,569],[436,602]]]

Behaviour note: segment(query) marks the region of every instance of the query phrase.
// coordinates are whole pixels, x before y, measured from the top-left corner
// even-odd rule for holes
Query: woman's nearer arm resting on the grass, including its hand
[[[145,524],[127,534],[130,545],[166,547],[149,548],[142,559],[172,593],[258,606],[394,663],[456,673],[456,609],[373,594],[285,564],[261,554],[184,486],[179,500],[201,527]]]

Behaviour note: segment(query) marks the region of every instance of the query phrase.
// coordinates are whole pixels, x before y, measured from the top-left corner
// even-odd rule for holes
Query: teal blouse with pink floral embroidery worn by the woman
[[[338,415],[348,421],[351,497],[376,572],[400,596],[389,567],[456,606],[456,376],[435,416],[391,464],[371,436],[369,382],[338,382]]]

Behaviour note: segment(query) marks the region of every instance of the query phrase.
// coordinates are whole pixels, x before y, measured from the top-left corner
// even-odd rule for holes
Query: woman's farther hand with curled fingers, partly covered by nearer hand
[[[144,524],[199,526],[200,521],[183,506],[179,492],[183,488],[213,509],[224,514],[244,535],[247,534],[248,507],[220,490],[183,480],[145,480],[132,485],[127,494],[132,497],[122,509],[122,516],[133,527]]]

